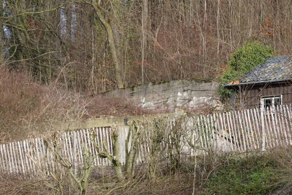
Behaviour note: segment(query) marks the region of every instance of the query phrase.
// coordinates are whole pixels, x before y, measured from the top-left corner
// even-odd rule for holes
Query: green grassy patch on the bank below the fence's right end
[[[202,194],[271,194],[287,184],[283,171],[279,161],[268,155],[232,158],[210,175]]]

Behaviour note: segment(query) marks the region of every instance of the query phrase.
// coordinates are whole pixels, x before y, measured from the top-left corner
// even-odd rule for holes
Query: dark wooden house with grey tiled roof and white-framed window
[[[292,103],[292,56],[267,58],[240,82],[222,85],[233,89],[230,103],[244,108],[275,108]]]

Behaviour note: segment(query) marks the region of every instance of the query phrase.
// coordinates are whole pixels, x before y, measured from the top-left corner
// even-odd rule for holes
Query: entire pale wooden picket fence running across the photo
[[[179,139],[182,139],[181,143],[184,144],[183,152],[189,156],[198,153],[206,154],[209,150],[229,152],[261,149],[264,151],[267,148],[292,144],[291,119],[291,106],[281,106],[273,111],[250,109],[199,115],[187,118],[188,125],[184,126],[187,133]],[[175,121],[172,124],[175,124]],[[170,127],[169,130],[171,129]],[[56,143],[60,147],[56,148],[66,162],[71,163],[72,168],[76,170],[82,167],[84,152],[82,147],[95,157],[93,165],[109,166],[110,161],[97,155],[94,142],[101,150],[104,147],[101,143],[105,142],[107,150],[112,153],[111,131],[111,128],[92,128],[64,132],[57,138]],[[122,164],[125,163],[127,131],[128,129],[123,128],[119,130]],[[94,134],[96,136],[93,136]],[[191,141],[192,146],[200,150],[194,150],[194,147],[184,141],[185,139]],[[44,172],[55,171],[57,151],[52,152],[54,151],[52,140],[54,139],[35,138],[0,145],[0,172],[28,173],[40,169]],[[51,150],[48,149],[49,147]],[[147,144],[142,145],[137,163],[143,162],[148,152]]]

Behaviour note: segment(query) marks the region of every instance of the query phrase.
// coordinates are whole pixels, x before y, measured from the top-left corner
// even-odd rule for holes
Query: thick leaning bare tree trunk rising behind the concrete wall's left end
[[[112,53],[112,60],[114,63],[114,71],[115,71],[116,82],[117,82],[118,88],[119,89],[124,88],[123,80],[121,77],[119,58],[117,55],[117,49],[114,42],[114,35],[112,32],[112,26],[109,24],[109,22],[105,19],[105,17],[101,13],[101,8],[99,7],[98,2],[95,0],[91,0],[91,3],[100,22],[102,23],[102,25],[105,27],[105,30],[107,31],[107,39],[109,42],[110,51]]]

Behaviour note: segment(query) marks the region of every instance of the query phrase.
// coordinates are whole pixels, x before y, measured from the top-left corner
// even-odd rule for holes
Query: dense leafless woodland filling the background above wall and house
[[[291,54],[288,0],[2,2],[1,65],[91,95],[153,81],[216,78],[246,41]]]

